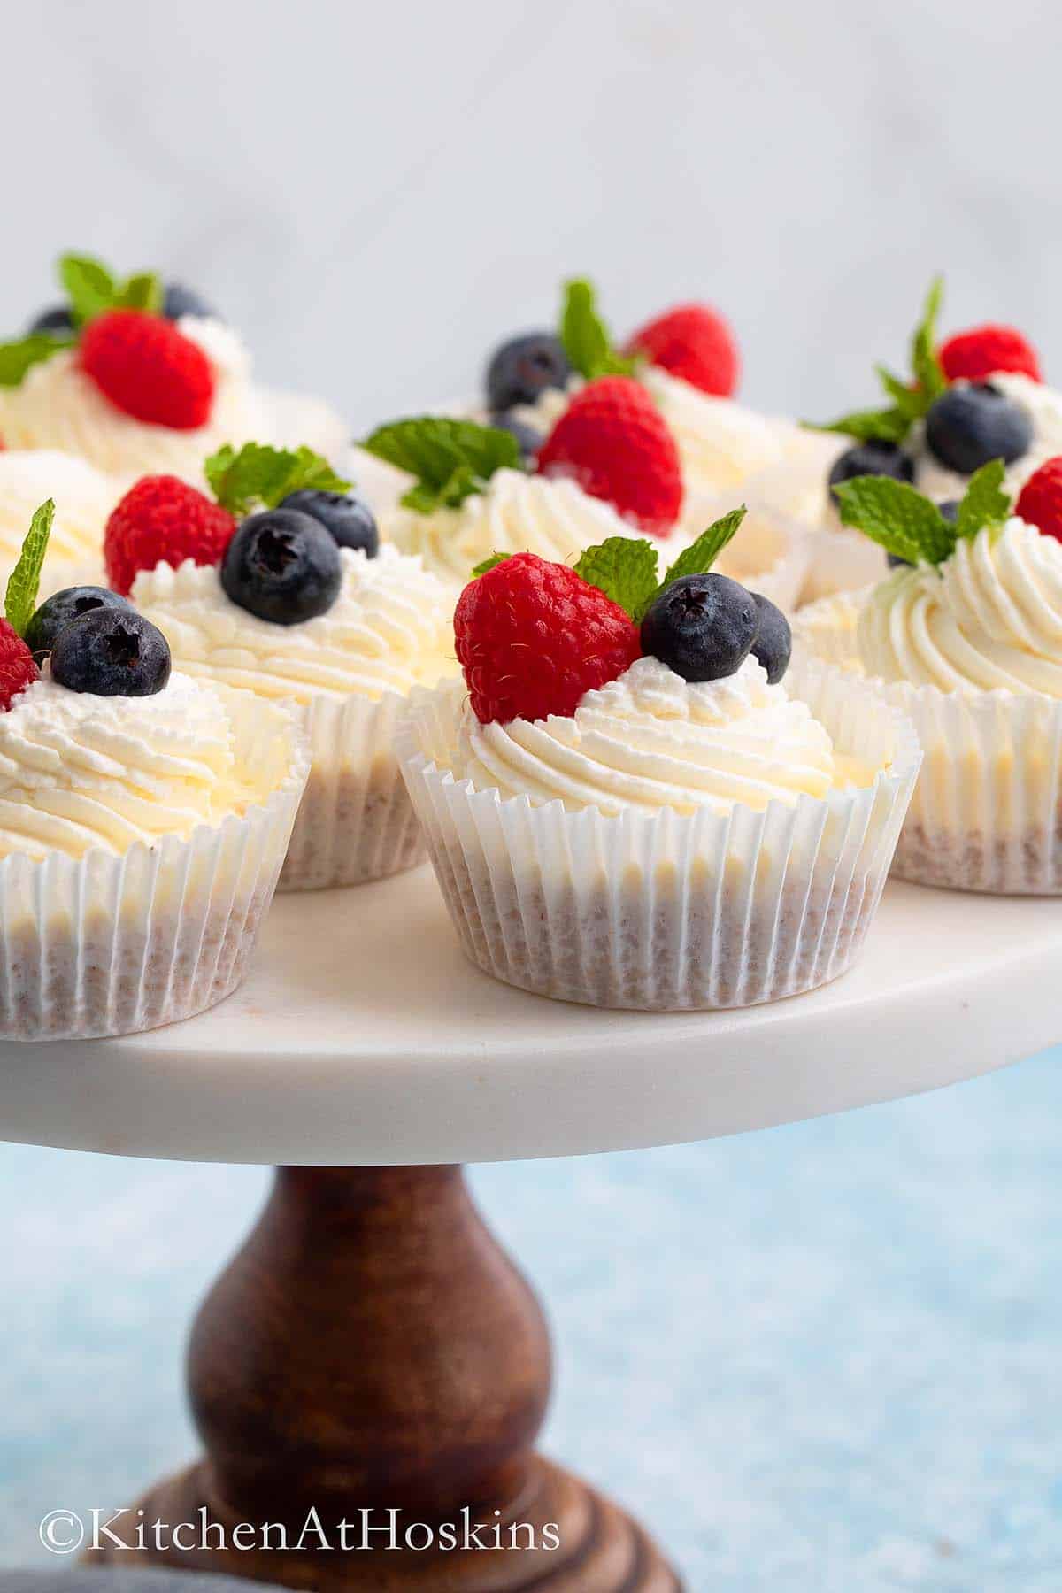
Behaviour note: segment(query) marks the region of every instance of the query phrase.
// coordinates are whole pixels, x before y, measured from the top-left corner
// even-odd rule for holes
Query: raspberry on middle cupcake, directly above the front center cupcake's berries
[[[538,472],[573,476],[651,537],[666,537],[678,519],[675,438],[631,376],[600,376],[575,395],[538,451]]]

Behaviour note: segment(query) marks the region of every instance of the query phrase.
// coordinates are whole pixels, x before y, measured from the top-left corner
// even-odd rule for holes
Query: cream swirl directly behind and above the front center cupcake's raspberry
[[[486,491],[459,508],[431,515],[396,508],[384,515],[382,530],[403,553],[419,554],[428,570],[459,586],[490,553],[537,553],[565,564],[605,537],[645,535],[575,481],[522,470],[495,472]]]

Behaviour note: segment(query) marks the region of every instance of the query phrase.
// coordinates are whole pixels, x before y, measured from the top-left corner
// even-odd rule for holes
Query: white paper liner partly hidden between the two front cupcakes
[[[310,773],[280,890],[323,890],[384,879],[424,862],[425,849],[395,757],[406,698],[315,698],[301,709]]]

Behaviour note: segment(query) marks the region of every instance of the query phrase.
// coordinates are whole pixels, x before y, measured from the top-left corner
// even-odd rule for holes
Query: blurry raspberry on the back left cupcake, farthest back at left
[[[162,315],[108,309],[81,333],[80,357],[103,397],[135,421],[196,432],[210,419],[210,360]]]

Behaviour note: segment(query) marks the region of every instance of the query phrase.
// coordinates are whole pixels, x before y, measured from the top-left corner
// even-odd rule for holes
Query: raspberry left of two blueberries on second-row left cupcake
[[[236,518],[177,476],[142,476],[111,510],[103,532],[107,580],[123,597],[139,570],[177,569],[185,559],[217,564]]]

